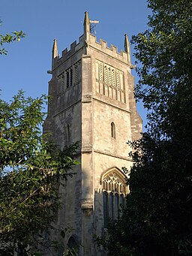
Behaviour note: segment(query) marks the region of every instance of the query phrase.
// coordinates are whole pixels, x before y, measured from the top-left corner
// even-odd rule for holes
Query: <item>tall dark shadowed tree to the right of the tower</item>
[[[147,132],[131,143],[127,206],[98,242],[110,255],[192,254],[192,3],[148,0],[148,29],[133,37]]]

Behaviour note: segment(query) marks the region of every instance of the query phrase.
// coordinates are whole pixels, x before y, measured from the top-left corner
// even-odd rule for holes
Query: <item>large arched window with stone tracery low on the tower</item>
[[[126,178],[120,170],[114,168],[107,171],[101,178],[103,183],[104,227],[107,227],[110,219],[114,220],[121,214],[121,206],[124,206],[127,194]]]

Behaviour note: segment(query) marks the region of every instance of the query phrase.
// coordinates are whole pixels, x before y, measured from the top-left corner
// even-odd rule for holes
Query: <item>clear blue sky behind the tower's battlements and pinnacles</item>
[[[85,11],[90,20],[100,22],[95,28],[97,40],[104,39],[118,51],[124,49],[125,33],[131,38],[147,28],[150,12],[145,0],[1,0],[0,34],[15,30],[27,34],[20,43],[6,45],[8,55],[0,56],[1,98],[9,101],[20,89],[31,97],[47,94],[53,39],[58,40],[60,54],[78,41]],[[141,104],[138,111],[145,124]]]

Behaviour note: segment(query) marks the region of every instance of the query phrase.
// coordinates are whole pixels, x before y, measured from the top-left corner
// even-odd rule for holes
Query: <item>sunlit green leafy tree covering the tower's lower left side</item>
[[[7,103],[0,99],[0,254],[31,255],[40,233],[49,233],[62,207],[58,186],[74,173],[77,144],[58,149],[40,125],[45,96]],[[30,246],[28,246],[30,245]],[[52,245],[52,244],[49,244]],[[46,246],[47,241],[46,241]],[[34,247],[33,247],[34,255]]]

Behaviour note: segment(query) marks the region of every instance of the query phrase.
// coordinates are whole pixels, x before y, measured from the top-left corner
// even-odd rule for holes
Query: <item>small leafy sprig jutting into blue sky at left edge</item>
[[[1,25],[1,20],[0,20],[0,25]],[[10,44],[13,41],[20,41],[21,38],[25,38],[25,37],[26,37],[26,34],[23,33],[23,31],[15,31],[15,32],[12,32],[12,34],[6,33],[5,35],[0,34],[1,47],[3,47],[4,44]],[[5,50],[4,47],[0,49],[0,55],[1,54],[7,55],[7,50]]]

